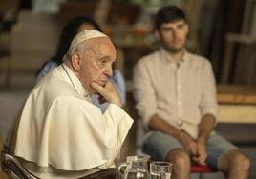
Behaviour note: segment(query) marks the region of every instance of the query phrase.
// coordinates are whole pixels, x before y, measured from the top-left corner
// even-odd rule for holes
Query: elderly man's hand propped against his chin
[[[91,86],[101,95],[99,97],[99,103],[109,102],[121,107],[121,99],[113,83],[108,81],[106,86],[102,87],[92,82]]]

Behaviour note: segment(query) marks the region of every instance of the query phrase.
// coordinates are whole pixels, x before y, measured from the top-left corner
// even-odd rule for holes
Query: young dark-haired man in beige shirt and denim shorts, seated
[[[209,61],[185,50],[183,11],[164,7],[156,15],[162,48],[139,60],[134,87],[137,109],[150,129],[143,151],[174,163],[174,177],[190,178],[190,162],[220,169],[230,179],[248,177],[250,161],[213,131],[216,87]]]

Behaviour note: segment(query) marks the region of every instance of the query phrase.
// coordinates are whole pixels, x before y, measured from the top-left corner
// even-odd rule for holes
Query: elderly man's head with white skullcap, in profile
[[[71,43],[66,63],[75,72],[84,89],[91,94],[96,90],[92,82],[104,87],[112,76],[112,64],[116,61],[116,49],[105,34],[97,30],[79,32]]]

